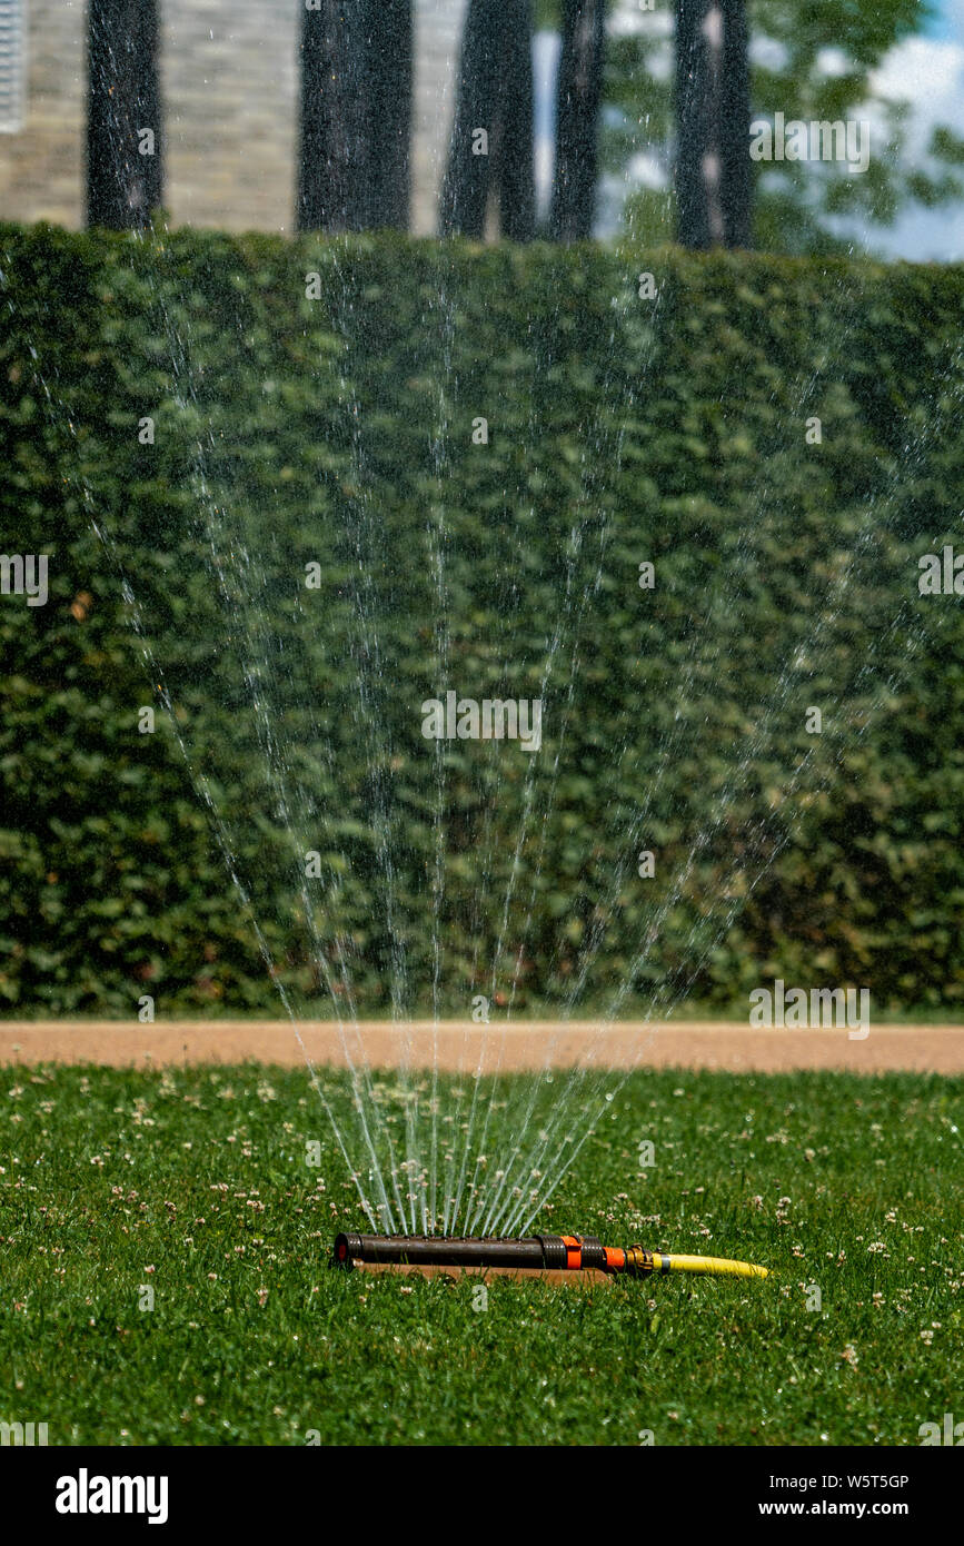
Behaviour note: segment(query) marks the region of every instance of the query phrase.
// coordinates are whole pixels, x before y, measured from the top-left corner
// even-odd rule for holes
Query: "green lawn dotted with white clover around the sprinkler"
[[[334,1144],[306,1166],[304,1074],[3,1070],[0,1419],[51,1444],[918,1444],[964,1418],[962,1096],[640,1073],[541,1226],[769,1280],[504,1282],[476,1311],[473,1282],[328,1269],[363,1218]]]

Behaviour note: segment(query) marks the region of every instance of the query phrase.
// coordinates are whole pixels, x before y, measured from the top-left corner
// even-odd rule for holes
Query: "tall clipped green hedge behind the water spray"
[[[0,226],[0,271],[2,550],[51,555],[0,597],[6,1013],[280,1006],[179,737],[298,1010],[961,1005],[959,267]],[[446,688],[542,697],[539,754],[425,741]]]

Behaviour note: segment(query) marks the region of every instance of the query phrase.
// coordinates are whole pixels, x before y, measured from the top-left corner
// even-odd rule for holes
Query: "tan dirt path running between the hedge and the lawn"
[[[516,1022],[484,1027],[446,1020],[433,1030],[416,1020],[406,1030],[363,1022],[345,1040],[328,1022],[298,1027],[317,1064],[345,1067],[348,1057],[374,1068],[402,1062],[453,1073],[569,1068],[726,1068],[734,1073],[786,1073],[796,1068],[848,1068],[877,1073],[964,1073],[964,1025],[881,1025],[865,1040],[847,1031],[751,1030],[745,1025],[633,1025],[599,1030],[593,1020]],[[171,1020],[131,1027],[117,1020],[0,1020],[0,1064],[91,1062],[124,1065],[236,1064],[253,1059],[298,1067],[304,1053],[287,1022]]]

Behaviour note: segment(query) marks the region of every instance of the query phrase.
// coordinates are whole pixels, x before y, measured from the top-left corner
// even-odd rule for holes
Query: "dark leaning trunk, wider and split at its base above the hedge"
[[[488,155],[474,155],[480,128],[488,135]],[[528,0],[470,0],[442,186],[442,233],[480,240],[490,189],[499,195],[502,235],[530,241],[536,182]]]

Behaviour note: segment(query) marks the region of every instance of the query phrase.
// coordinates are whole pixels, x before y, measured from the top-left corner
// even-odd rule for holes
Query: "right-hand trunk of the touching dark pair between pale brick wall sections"
[[[368,0],[366,226],[408,230],[411,198],[411,0]]]

